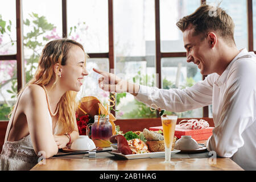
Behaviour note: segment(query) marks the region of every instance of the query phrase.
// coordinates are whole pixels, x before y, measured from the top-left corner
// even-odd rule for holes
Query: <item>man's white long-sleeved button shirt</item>
[[[256,55],[242,49],[221,76],[185,89],[158,89],[140,85],[135,97],[148,106],[183,112],[212,104],[214,129],[208,151],[232,158],[246,170],[256,170]]]

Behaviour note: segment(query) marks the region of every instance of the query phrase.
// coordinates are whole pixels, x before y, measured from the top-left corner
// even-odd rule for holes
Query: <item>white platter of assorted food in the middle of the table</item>
[[[158,131],[144,129],[141,131],[128,131],[124,135],[110,137],[112,147],[115,149],[110,154],[124,159],[158,158],[164,157],[163,135]],[[171,154],[180,150],[174,149],[177,138],[174,138]]]

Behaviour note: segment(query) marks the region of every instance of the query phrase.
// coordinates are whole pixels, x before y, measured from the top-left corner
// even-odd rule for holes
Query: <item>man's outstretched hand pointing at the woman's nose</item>
[[[98,84],[101,89],[117,93],[129,92],[130,94],[137,96],[139,92],[139,85],[122,80],[113,73],[104,72],[95,68],[93,68],[93,71],[102,76],[98,79]]]

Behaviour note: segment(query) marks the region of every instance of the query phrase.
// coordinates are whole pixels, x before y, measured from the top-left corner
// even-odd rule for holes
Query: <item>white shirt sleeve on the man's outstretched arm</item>
[[[135,98],[148,106],[156,104],[161,109],[174,112],[207,106],[212,104],[214,74],[185,89],[167,90],[140,85],[139,93]]]

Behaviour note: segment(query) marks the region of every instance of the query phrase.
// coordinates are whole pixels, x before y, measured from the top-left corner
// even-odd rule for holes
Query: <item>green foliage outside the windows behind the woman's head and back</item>
[[[44,44],[49,42],[49,40],[59,39],[60,36],[56,33],[56,27],[54,24],[49,23],[45,16],[39,16],[36,13],[31,13],[30,19],[23,20],[24,28],[29,29],[30,31],[23,35],[23,45],[24,49],[29,49],[32,53],[30,57],[25,59],[25,72],[26,72],[26,82],[30,81],[34,76],[34,72],[37,68],[37,63],[41,54],[42,47]],[[76,31],[76,26],[73,28]],[[72,28],[71,28],[72,31]],[[0,14],[0,48],[5,46],[1,45],[3,35],[7,35],[10,39],[10,43],[13,45],[16,40],[11,39],[11,20],[3,20],[2,15]],[[3,61],[5,62],[5,61]],[[9,61],[6,61],[6,63]],[[16,79],[16,68],[14,68],[13,74],[9,80],[4,80],[0,82],[0,91],[3,86],[8,83],[11,83],[11,88],[7,90],[8,93],[12,94],[11,98],[16,98],[17,96],[17,79]],[[13,104],[10,104],[5,100],[3,104],[0,104],[0,120],[8,119],[7,116],[11,111]]]

